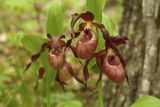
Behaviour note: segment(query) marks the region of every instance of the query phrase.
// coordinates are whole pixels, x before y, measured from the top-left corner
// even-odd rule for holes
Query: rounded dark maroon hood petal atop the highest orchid
[[[91,12],[86,12],[81,14],[81,18],[86,22],[92,22],[94,20],[94,15]]]

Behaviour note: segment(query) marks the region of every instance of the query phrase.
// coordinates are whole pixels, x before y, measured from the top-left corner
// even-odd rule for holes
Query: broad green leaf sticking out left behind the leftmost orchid
[[[23,46],[25,47],[26,50],[28,50],[32,54],[38,52],[41,48],[41,45],[47,41],[48,41],[47,38],[30,34],[26,34],[22,38]]]

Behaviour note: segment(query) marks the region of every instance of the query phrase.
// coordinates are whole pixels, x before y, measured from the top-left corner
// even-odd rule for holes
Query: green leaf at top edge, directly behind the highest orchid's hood
[[[94,14],[97,22],[101,22],[104,5],[105,0],[87,0],[86,10]]]

